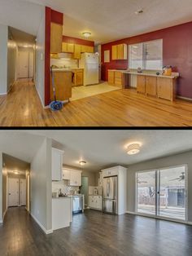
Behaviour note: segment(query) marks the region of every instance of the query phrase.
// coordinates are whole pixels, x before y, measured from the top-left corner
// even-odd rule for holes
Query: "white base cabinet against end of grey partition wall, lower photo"
[[[69,227],[72,223],[72,196],[52,198],[52,229]]]

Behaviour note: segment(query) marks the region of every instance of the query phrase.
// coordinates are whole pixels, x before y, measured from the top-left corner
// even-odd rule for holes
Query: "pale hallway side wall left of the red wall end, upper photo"
[[[45,106],[45,8],[41,17],[36,42],[36,80],[35,86],[41,99],[41,104]]]

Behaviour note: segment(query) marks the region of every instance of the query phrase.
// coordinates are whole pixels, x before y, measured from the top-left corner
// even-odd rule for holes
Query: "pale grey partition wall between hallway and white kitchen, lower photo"
[[[51,140],[44,139],[31,162],[31,214],[44,232],[52,228]]]

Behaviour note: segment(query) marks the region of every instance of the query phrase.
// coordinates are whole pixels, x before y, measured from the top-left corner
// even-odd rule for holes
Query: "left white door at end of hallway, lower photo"
[[[8,179],[8,207],[19,205],[19,179]]]

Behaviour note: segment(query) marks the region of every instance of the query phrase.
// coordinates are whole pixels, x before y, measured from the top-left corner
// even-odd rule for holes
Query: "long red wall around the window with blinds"
[[[181,77],[177,80],[177,95],[192,99],[192,22],[180,24],[168,29],[161,29],[145,33],[132,38],[125,38],[102,46],[102,78],[107,81],[107,71],[111,68],[128,68],[128,60],[111,60],[104,63],[104,51],[111,46],[126,43],[133,44],[147,42],[162,38],[164,41],[164,65],[172,65],[173,71],[179,72]]]

